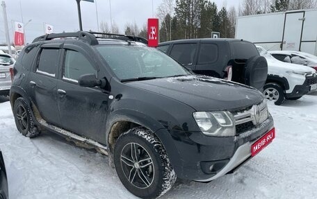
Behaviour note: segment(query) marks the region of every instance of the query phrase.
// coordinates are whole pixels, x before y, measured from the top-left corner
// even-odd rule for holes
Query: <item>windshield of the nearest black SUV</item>
[[[120,80],[186,76],[189,72],[165,53],[146,46],[97,46]]]

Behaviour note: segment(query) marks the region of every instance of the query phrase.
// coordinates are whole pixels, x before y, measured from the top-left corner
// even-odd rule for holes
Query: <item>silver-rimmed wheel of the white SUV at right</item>
[[[276,83],[267,83],[263,87],[263,94],[275,105],[281,105],[285,101],[284,89]]]

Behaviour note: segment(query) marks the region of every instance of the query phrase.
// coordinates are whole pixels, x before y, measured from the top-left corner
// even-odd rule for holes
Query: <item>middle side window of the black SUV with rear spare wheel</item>
[[[194,62],[197,44],[174,44],[170,55],[184,65]]]

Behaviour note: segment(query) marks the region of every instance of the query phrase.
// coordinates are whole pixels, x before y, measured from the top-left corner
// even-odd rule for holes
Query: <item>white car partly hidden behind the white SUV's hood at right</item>
[[[317,56],[300,51],[268,51],[274,58],[282,62],[301,64],[317,71]]]

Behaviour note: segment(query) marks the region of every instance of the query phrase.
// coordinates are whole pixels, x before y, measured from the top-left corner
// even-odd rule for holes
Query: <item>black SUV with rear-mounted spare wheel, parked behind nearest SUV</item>
[[[158,49],[194,73],[224,78],[263,90],[266,59],[251,42],[234,39],[190,39],[158,44]]]

